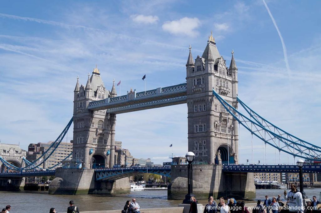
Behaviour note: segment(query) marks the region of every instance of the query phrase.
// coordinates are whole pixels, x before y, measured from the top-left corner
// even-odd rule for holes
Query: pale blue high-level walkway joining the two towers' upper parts
[[[186,83],[160,87],[146,92],[136,93],[136,91],[131,91],[127,95],[92,101],[87,109],[92,111],[107,110],[107,113],[114,114],[140,111],[186,103],[186,94]]]

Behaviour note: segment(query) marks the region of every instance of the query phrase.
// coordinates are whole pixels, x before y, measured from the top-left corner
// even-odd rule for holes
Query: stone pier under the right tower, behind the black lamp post
[[[169,200],[183,200],[187,194],[187,165],[171,166]],[[221,165],[193,165],[193,194],[196,199],[213,196],[254,200],[256,191],[253,173],[223,172]]]

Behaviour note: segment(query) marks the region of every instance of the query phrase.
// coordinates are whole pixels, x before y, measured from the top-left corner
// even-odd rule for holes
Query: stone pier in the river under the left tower
[[[130,193],[129,177],[117,181],[95,181],[94,169],[56,169],[49,194]]]

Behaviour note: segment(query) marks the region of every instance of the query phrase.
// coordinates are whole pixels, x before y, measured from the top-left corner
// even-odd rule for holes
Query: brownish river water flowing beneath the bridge
[[[288,190],[287,190],[288,191]],[[313,195],[319,200],[321,189],[305,189],[308,198]],[[256,200],[263,200],[265,195],[270,198],[281,194],[283,189],[257,189]],[[167,200],[167,191],[132,191],[130,194],[117,196],[111,195],[49,195],[48,192],[0,192],[0,208],[11,205],[10,213],[37,212],[48,213],[51,207],[57,212],[66,212],[69,201],[74,200],[75,205],[81,211],[101,211],[112,209],[123,209],[127,200],[135,197],[141,208],[162,208],[177,207],[182,201]],[[196,198],[197,199],[197,198]],[[199,203],[206,204],[206,200],[199,200]],[[247,201],[253,202],[253,201]],[[0,209],[0,210],[1,210]]]

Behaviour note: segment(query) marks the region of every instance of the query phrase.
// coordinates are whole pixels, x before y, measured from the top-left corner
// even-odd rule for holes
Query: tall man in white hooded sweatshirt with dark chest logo
[[[297,190],[297,183],[292,183],[290,185],[290,188],[291,188],[291,191],[289,191],[289,193],[287,193],[286,191],[284,192],[284,200],[286,200],[289,212],[303,213],[304,208],[303,208],[302,194]]]

